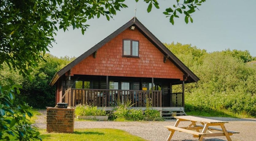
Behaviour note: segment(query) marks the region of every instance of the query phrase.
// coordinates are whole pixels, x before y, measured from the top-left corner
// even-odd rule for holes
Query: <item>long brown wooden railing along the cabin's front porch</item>
[[[65,92],[65,103],[68,106],[78,104],[96,105],[98,107],[111,107],[116,100],[121,102],[131,100],[133,107],[146,107],[146,97],[151,99],[152,107],[162,107],[162,91],[149,90],[108,90],[108,89],[75,89]]]

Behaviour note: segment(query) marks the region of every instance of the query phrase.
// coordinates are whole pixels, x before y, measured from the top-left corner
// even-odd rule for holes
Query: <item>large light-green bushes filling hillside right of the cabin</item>
[[[165,44],[199,78],[185,84],[185,111],[221,111],[256,116],[256,65],[249,51],[207,53],[191,44]],[[248,62],[249,61],[249,62]],[[173,92],[180,92],[173,86]]]

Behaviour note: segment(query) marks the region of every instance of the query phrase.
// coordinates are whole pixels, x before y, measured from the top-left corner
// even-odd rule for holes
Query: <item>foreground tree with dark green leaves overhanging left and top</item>
[[[89,27],[86,21],[101,15],[107,20],[127,6],[125,0],[2,0],[0,2],[0,70],[4,64],[10,69],[19,72],[19,75],[28,77],[32,81],[31,73],[44,59],[45,52],[52,47],[54,35],[58,29],[66,31],[69,26],[73,29],[81,29],[82,34]],[[157,0],[144,0],[148,3],[147,11],[152,6],[159,8]],[[136,0],[138,2],[138,0]],[[174,24],[177,13],[185,14],[185,22],[188,19],[193,22],[190,14],[195,12],[205,0],[184,0],[183,3],[173,5],[164,12]],[[58,26],[58,27],[57,27]],[[3,85],[0,81],[0,139],[7,139],[4,132],[14,135],[17,133],[19,140],[38,138],[39,133],[34,132],[30,124],[24,118],[25,114],[32,116],[29,106],[24,104],[17,107],[17,112],[10,109],[13,105],[14,92],[19,93],[20,85],[14,84],[10,78],[6,78],[10,85]],[[19,116],[19,114],[21,116]],[[6,117],[9,119],[7,120]],[[22,122],[21,122],[22,121]],[[25,126],[25,128],[23,128]]]

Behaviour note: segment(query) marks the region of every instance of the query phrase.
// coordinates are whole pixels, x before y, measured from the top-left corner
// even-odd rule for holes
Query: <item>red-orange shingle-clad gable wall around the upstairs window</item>
[[[139,40],[139,58],[122,57],[122,40]],[[126,29],[72,68],[72,75],[108,75],[147,78],[177,78],[184,73],[161,53],[138,29]]]

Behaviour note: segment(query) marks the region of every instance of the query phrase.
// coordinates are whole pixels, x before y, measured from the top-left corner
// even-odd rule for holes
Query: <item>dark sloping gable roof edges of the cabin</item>
[[[135,20],[134,20],[135,18]],[[154,44],[163,54],[168,55],[169,59],[182,71],[184,74],[188,74],[188,77],[192,78],[193,82],[197,82],[199,78],[188,69],[187,66],[184,65],[178,59],[168,48],[165,47],[165,45],[157,39],[156,36],[154,36],[136,17],[132,18],[130,21],[128,21],[126,24],[121,26],[119,29],[114,31],[112,34],[107,36],[105,39],[100,41],[98,44],[90,48],[88,51],[84,52],[82,55],[77,57],[75,60],[73,60],[71,63],[69,63],[67,66],[56,72],[54,77],[52,78],[52,81],[50,82],[50,86],[53,86],[57,80],[65,74],[68,70],[70,70],[72,67],[77,65],[79,62],[81,62],[83,59],[87,58],[89,55],[97,51],[99,48],[101,48],[103,45],[105,45],[107,42],[109,42],[111,39],[116,37],[118,34],[123,32],[124,30],[128,29],[130,26],[136,26],[140,32],[152,43]]]

